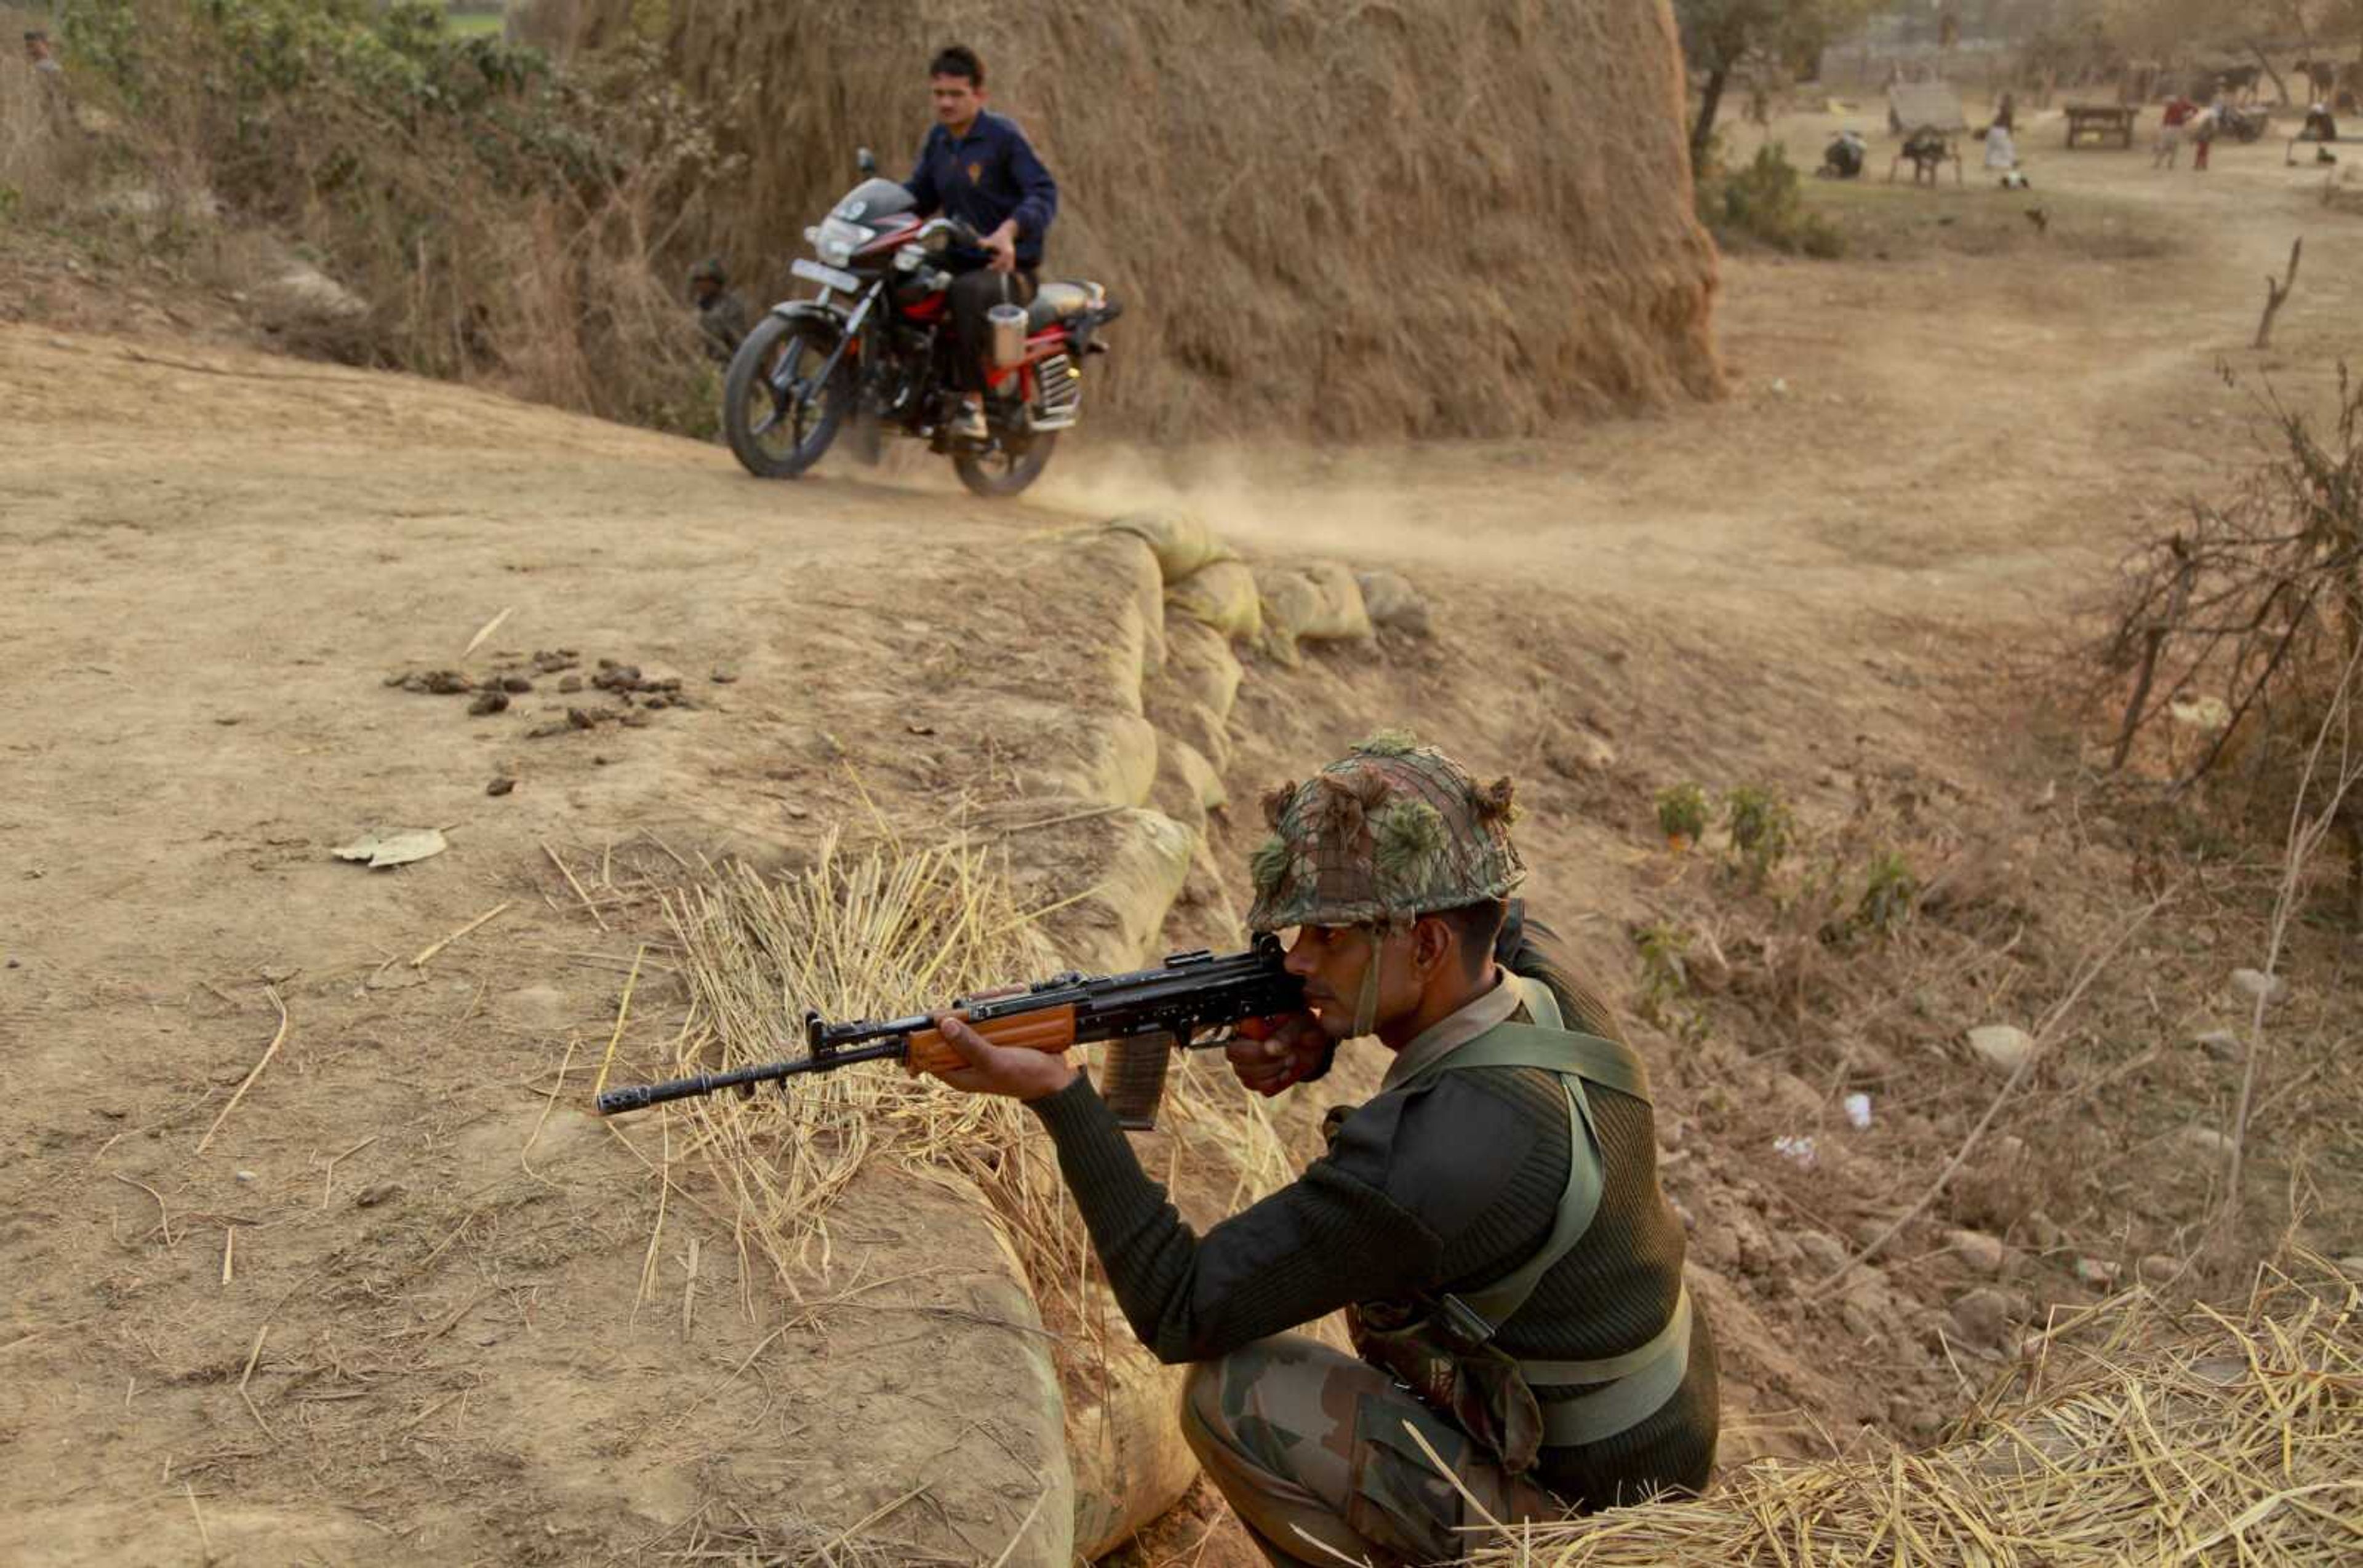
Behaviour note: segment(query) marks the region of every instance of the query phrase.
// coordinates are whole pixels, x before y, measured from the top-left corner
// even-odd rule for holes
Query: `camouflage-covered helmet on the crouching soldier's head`
[[[1264,796],[1271,836],[1248,860],[1252,930],[1404,926],[1505,897],[1526,867],[1510,845],[1510,779],[1401,732],[1373,734],[1304,784]]]

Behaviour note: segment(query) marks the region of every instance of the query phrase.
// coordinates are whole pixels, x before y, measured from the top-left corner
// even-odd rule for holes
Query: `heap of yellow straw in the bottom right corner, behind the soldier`
[[[1512,1530],[1472,1554],[1713,1563],[2351,1563],[2363,1556],[2363,1292],[2309,1259],[2238,1313],[2143,1292],[2053,1325],[1959,1440],[1760,1462],[1692,1502]]]

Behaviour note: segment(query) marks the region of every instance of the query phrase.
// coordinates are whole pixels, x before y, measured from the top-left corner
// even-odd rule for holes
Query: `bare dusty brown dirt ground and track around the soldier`
[[[1779,132],[1810,163],[1831,125]],[[2278,144],[2221,149],[2209,175],[2065,156],[2044,123],[2023,149],[2032,196],[1829,191],[1876,236],[1857,260],[1734,260],[1725,404],[1517,446],[1085,439],[1026,508],[929,472],[759,486],[711,449],[161,328],[0,328],[0,545],[33,586],[0,685],[0,1355],[24,1391],[0,1433],[40,1500],[0,1525],[7,1556],[657,1561],[792,1551],[785,1511],[829,1542],[877,1509],[957,1561],[1018,1535],[1040,1422],[1009,1410],[1018,1384],[978,1384],[1021,1337],[1004,1280],[922,1278],[974,1216],[858,1195],[829,1294],[742,1296],[728,1228],[692,1214],[704,1252],[681,1230],[652,1244],[664,1148],[600,1129],[581,1091],[652,930],[636,878],[792,857],[867,822],[865,796],[933,831],[978,798],[1061,793],[1089,746],[1075,704],[1099,692],[1082,649],[1115,588],[1052,536],[1163,496],[1252,548],[1399,564],[1437,600],[1432,642],[1250,666],[1243,793],[1406,718],[1519,772],[1534,900],[1619,987],[1628,923],[1765,921],[1649,843],[1656,786],[1770,779],[1834,838],[1860,798],[1886,824],[1912,793],[1921,819],[1897,834],[1990,852],[2016,867],[2009,900],[2058,912],[2009,963],[1978,956],[2004,942],[1985,916],[1916,956],[1968,954],[1968,994],[2032,1027],[2096,945],[2101,923],[2068,912],[2131,895],[2096,883],[2124,869],[2105,831],[2035,812],[2046,784],[2072,798],[2075,753],[2016,675],[2072,642],[2129,529],[2240,451],[2247,401],[2219,359],[2311,397],[2358,352],[2363,236]],[[2049,236],[2016,217],[2032,203]],[[2245,349],[2259,276],[2299,231],[2306,272],[2261,359]],[[501,612],[468,668],[565,647],[581,675],[605,656],[681,678],[695,706],[527,739],[584,704],[551,690],[562,675],[487,718],[383,685],[458,666]],[[1583,737],[1614,763],[1569,760]],[[496,777],[517,784],[487,796]],[[1928,819],[1966,827],[1942,838]],[[442,827],[451,850],[376,874],[331,860],[371,827]],[[1248,829],[1222,831],[1238,848]],[[2143,1030],[2179,1046],[2250,959],[2245,930],[2224,914],[2205,940],[2143,947],[2165,997],[2110,1013],[2094,1048]],[[2299,1032],[2323,1051],[2351,1030],[2323,1001],[2346,980],[2339,952],[2325,940],[2294,973]],[[1919,1013],[1905,980],[1857,980],[1897,1006],[1848,1015],[1846,1048],[1805,1020],[1784,1032],[1744,987],[1697,1004],[1704,1044],[1645,1032],[1675,1086],[1668,1183],[1730,1346],[1734,1455],[1855,1422],[1914,1431],[1959,1389],[1921,1332],[1966,1285],[1945,1259],[1914,1252],[1841,1313],[1801,1299],[1820,1268],[1786,1256],[1803,1233],[1857,1240],[1983,1108],[1990,1086],[1947,1041],[1985,1018],[1952,1015],[1964,992],[1942,980],[1959,975],[1931,975]],[[624,1048],[652,1053],[678,992],[662,971],[640,985]],[[274,997],[286,1034],[224,1117],[274,1041]],[[2084,1096],[2136,1056],[2046,1086],[2025,1126],[2037,1162],[2082,1148]],[[1765,1103],[1718,1100],[1725,1072]],[[1834,1096],[1855,1082],[1888,1119],[1784,1174],[1770,1133],[1843,1138]],[[2108,1082],[2157,1117],[2221,1093],[2150,1065]],[[2316,1072],[2313,1091],[2335,1086]],[[2302,1131],[2306,1105],[2276,1126]],[[2174,1185],[2172,1141],[2127,1145],[2105,1150],[2129,1159],[2110,1181],[2162,1193],[2131,1252],[2165,1252],[2205,1183]],[[2027,1226],[2030,1207],[1990,1223]],[[2098,1221],[2049,1223],[2068,1237],[2023,1280],[2030,1299],[2072,1292],[2079,1252],[2127,1249]],[[2306,1240],[2363,1249],[2335,1207]],[[940,1365],[962,1367],[957,1389]],[[940,1448],[879,1450],[888,1431]],[[1148,1554],[1236,1556],[1210,1518]]]

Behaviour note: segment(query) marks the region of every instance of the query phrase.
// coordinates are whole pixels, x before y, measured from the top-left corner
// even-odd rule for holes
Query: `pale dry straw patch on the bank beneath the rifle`
[[[1056,968],[990,850],[969,843],[846,850],[829,836],[806,869],[785,876],[740,862],[707,867],[702,881],[664,895],[664,914],[690,992],[666,1063],[681,1074],[801,1056],[803,1008],[884,1018]],[[725,1195],[742,1256],[761,1259],[789,1296],[832,1263],[832,1202],[867,1162],[888,1159],[971,1181],[1044,1322],[1068,1334],[1068,1353],[1104,1344],[1106,1289],[1089,1273],[1089,1237],[1023,1105],[872,1063],[799,1077],[787,1093],[711,1096],[666,1115],[669,1176],[704,1169]],[[1186,1148],[1191,1185],[1212,1202],[1252,1202],[1293,1176],[1262,1105],[1217,1063],[1191,1060],[1172,1074],[1167,1126]]]

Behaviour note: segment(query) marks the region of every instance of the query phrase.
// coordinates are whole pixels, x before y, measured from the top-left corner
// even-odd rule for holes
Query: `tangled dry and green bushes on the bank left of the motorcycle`
[[[300,295],[317,269],[359,302],[291,321],[291,347],[714,427],[671,276],[723,161],[652,50],[562,71],[416,0],[92,0],[69,40],[149,205],[217,201],[291,248],[246,283]]]

